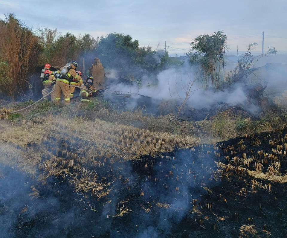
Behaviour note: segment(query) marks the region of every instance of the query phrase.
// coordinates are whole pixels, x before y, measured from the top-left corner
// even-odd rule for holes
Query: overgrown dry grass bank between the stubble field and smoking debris
[[[32,101],[10,103],[7,105],[7,108],[15,107],[15,109],[19,109],[31,103]],[[8,110],[11,109],[2,109],[4,113],[1,114],[1,119],[7,118]],[[214,143],[244,134],[269,131],[282,127],[287,123],[287,117],[284,115],[269,113],[265,114],[260,120],[251,120],[251,118],[243,118],[242,116],[235,115],[233,109],[220,112],[210,120],[204,119],[197,122],[181,121],[172,114],[160,115],[158,117],[145,115],[140,109],[133,112],[116,111],[109,108],[108,103],[100,100],[95,100],[86,105],[74,102],[65,107],[57,107],[48,100],[45,100],[21,113],[27,120],[31,120],[35,116],[46,117],[49,114],[60,115],[68,119],[83,118],[83,121],[102,120],[112,124],[132,125],[134,128],[152,132],[199,137],[206,143]]]

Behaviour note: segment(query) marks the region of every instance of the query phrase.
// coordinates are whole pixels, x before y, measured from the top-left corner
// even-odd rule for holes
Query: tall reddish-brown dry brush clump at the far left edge
[[[4,93],[16,97],[27,89],[39,50],[39,38],[12,14],[0,22],[0,88]]]

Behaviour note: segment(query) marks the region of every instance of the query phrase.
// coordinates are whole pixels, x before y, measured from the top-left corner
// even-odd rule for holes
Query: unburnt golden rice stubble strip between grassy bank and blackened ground
[[[43,143],[67,140],[88,148],[86,163],[93,158],[129,160],[141,155],[158,155],[177,148],[187,148],[199,141],[190,136],[152,132],[134,126],[109,123],[95,119],[65,119],[52,115],[45,118],[22,120],[21,126],[2,131],[0,139],[21,148],[38,147]],[[38,156],[39,161],[41,156]],[[33,161],[36,164],[36,161]]]

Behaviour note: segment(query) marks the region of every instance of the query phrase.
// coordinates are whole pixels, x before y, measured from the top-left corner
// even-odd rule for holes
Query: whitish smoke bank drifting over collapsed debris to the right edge
[[[287,64],[277,63],[274,57],[277,56],[263,57],[255,62],[254,67],[261,68],[248,74],[248,78],[244,82],[233,84],[229,89],[221,91],[214,91],[212,87],[210,90],[204,89],[198,80],[197,68],[191,67],[188,62],[184,62],[181,67],[161,71],[155,76],[144,75],[140,81],[134,84],[112,84],[110,89],[132,94],[133,100],[129,101],[130,108],[137,106],[138,94],[140,94],[155,99],[154,107],[162,100],[169,100],[171,103],[173,101],[177,105],[185,103],[189,107],[199,110],[202,108],[212,109],[213,106],[226,104],[241,106],[248,112],[257,115],[260,109],[256,103],[250,103],[246,94],[246,85],[252,86],[256,83],[261,83],[262,86],[267,85],[265,93],[270,99],[287,90]],[[276,64],[272,62],[276,62]],[[227,73],[227,70],[225,72]]]

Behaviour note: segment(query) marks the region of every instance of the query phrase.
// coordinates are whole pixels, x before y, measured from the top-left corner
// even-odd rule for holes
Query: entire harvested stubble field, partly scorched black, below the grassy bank
[[[200,144],[85,123],[1,121],[4,237],[286,237],[286,128]]]

